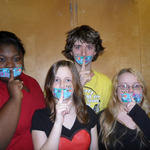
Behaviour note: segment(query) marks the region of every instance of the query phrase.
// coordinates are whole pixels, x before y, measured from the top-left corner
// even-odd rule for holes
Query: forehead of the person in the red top
[[[0,45],[0,55],[12,56],[18,54],[18,50],[14,45]]]

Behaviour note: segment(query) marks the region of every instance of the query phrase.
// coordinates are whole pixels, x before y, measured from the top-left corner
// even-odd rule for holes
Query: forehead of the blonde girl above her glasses
[[[138,82],[137,78],[132,73],[123,73],[118,78],[118,83],[135,83]]]

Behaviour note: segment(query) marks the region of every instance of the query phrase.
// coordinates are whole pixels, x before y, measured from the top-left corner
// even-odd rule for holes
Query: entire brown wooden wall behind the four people
[[[0,0],[0,30],[22,39],[25,73],[42,88],[49,67],[65,59],[65,33],[88,24],[100,32],[105,47],[93,68],[110,78],[123,67],[137,68],[150,90],[149,8],[149,0]]]

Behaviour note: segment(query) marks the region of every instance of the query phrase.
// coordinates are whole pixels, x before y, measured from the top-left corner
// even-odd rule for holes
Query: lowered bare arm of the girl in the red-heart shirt
[[[98,150],[97,126],[91,129],[91,145],[90,150]]]

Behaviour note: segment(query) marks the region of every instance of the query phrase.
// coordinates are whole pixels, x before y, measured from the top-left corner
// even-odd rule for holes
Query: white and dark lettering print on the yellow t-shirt
[[[98,113],[100,111],[100,95],[97,95],[96,91],[87,86],[84,86],[83,93],[86,104],[90,106],[95,113]]]

